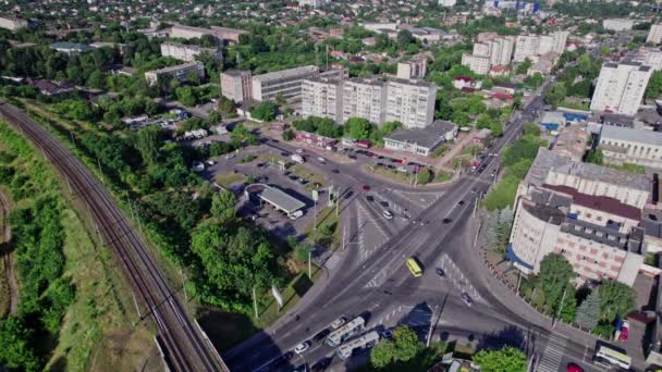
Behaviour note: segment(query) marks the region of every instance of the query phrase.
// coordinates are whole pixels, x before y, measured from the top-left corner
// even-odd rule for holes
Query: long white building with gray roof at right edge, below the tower
[[[602,125],[600,148],[608,163],[662,169],[662,133]]]

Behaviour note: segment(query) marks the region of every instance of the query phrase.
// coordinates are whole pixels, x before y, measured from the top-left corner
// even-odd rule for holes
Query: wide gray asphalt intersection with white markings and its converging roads
[[[361,257],[354,247],[342,252],[340,268],[332,271],[324,287],[274,326],[229,351],[225,355],[229,365],[235,371],[278,370],[275,364],[283,352],[310,339],[339,317],[364,314],[369,330],[404,323],[417,328],[424,338],[433,330],[436,335],[476,337],[479,345],[508,343],[522,347],[540,371],[563,369],[568,360],[590,370],[585,362],[592,356],[594,340],[563,325],[551,328],[549,319],[528,308],[486,273],[474,247],[475,202],[492,185],[492,174],[499,169],[498,154],[522,135],[523,123],[534,120],[542,109],[541,95],[532,98],[506,126],[503,137],[493,141],[490,152],[497,156],[486,159],[482,172],[466,174],[451,186],[433,189],[441,196],[413,214],[420,223],[387,225],[385,241],[368,256]],[[284,144],[272,146],[292,150]],[[343,186],[353,191],[365,210],[370,203],[363,201],[368,193],[360,185],[370,184],[375,189],[380,181],[351,164],[331,162],[327,166],[340,170],[346,181]],[[383,188],[391,190],[392,196],[402,196],[405,189],[393,185]],[[406,189],[406,193],[415,198],[417,191]],[[379,216],[372,213],[371,218]],[[410,256],[425,265],[420,278],[413,277],[404,265]],[[436,266],[444,269],[446,278],[436,275]],[[471,307],[462,301],[462,293],[474,299]],[[314,345],[289,364],[312,364],[322,358],[333,358],[333,352],[328,346]],[[338,358],[334,362],[340,364]]]

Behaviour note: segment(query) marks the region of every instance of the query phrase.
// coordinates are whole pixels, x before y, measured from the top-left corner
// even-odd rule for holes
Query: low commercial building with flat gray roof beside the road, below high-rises
[[[437,120],[424,128],[393,132],[384,137],[384,148],[428,157],[440,145],[453,140],[455,136],[457,136],[455,123]]]

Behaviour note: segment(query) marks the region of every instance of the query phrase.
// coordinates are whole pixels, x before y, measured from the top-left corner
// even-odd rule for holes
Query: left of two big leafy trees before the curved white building
[[[540,273],[536,276],[537,287],[544,293],[548,309],[554,314],[561,307],[563,292],[575,277],[573,265],[559,253],[549,253],[540,261]]]

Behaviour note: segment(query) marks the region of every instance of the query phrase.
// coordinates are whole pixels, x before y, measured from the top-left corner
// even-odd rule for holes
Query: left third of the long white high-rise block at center
[[[343,84],[327,77],[302,82],[302,115],[332,119],[342,123]]]

